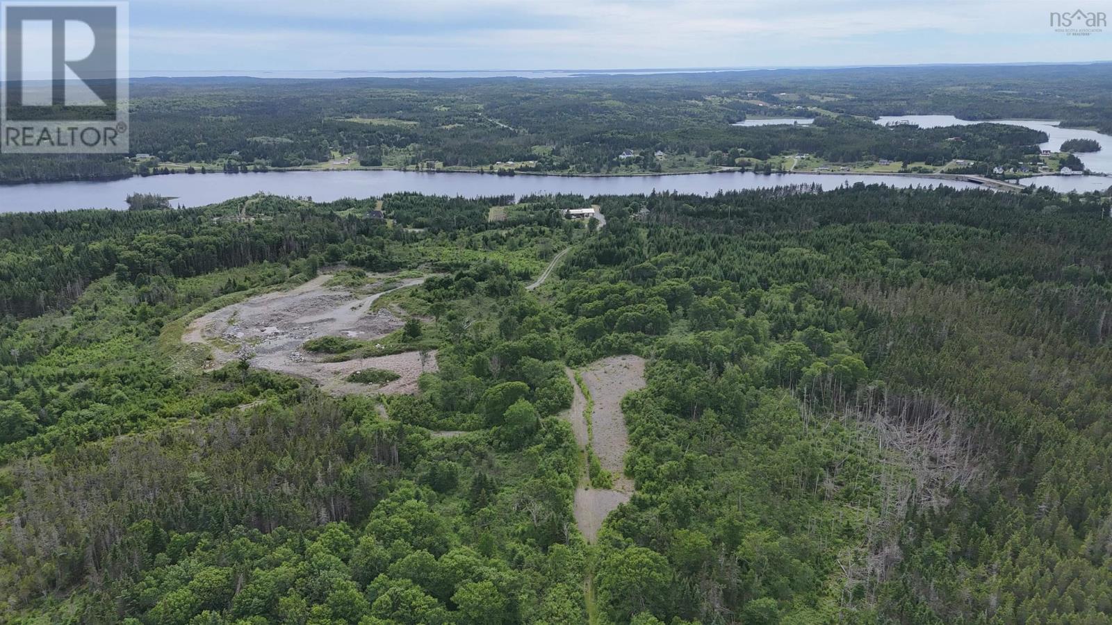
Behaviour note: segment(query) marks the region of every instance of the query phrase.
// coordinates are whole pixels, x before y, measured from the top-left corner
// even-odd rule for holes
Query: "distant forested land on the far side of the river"
[[[131,149],[152,159],[0,156],[0,182],[319,167],[337,155],[363,167],[489,170],[513,161],[514,169],[562,173],[753,167],[790,151],[834,162],[963,158],[991,169],[1020,162],[1040,133],[885,132],[867,122],[945,113],[1055,119],[1112,132],[1110,76],[1106,63],[1095,63],[559,79],[141,79],[131,87]],[[731,126],[800,116],[822,122]],[[955,132],[962,140],[947,141]],[[619,158],[624,150],[636,158]]]

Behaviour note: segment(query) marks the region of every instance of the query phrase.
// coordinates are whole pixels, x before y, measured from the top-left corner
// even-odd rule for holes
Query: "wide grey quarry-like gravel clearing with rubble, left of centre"
[[[324,336],[370,340],[390,334],[403,326],[403,320],[388,310],[368,310],[386,292],[419,285],[424,278],[401,280],[391,289],[366,296],[326,287],[331,277],[317,276],[291,290],[260,295],[209,312],[191,323],[181,340],[210,346],[212,366],[249,355],[252,367],[308,378],[334,395],[415,393],[420,374],[436,370],[435,351],[322,363],[320,357],[302,351],[301,344]],[[380,388],[347,381],[347,376],[368,367],[401,377]]]

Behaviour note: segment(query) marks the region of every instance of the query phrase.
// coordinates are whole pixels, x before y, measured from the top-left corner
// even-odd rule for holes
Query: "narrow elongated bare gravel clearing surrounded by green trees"
[[[589,442],[584,418],[586,397],[574,383],[572,371],[567,374],[573,379],[575,393],[567,416],[576,443],[580,447],[589,443],[599,464],[614,477],[613,489],[580,487],[575,490],[575,524],[587,542],[594,543],[606,516],[628,502],[634,490],[633,480],[623,472],[629,434],[622,414],[622,398],[645,387],[645,360],[638,356],[614,356],[598,360],[580,373],[594,400]]]

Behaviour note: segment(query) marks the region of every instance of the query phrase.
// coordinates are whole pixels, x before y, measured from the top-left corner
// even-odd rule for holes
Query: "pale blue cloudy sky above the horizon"
[[[1112,60],[1100,0],[131,0],[132,75]]]

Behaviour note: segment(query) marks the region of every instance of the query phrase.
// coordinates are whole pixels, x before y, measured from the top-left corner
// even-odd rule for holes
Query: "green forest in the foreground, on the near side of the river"
[[[0,216],[3,621],[1112,622],[1110,199]],[[590,204],[604,227],[562,216]],[[376,339],[435,349],[416,393],[182,344],[321,272],[425,277],[379,300],[408,320]],[[622,403],[636,492],[592,543],[565,367],[614,355],[647,361]]]

